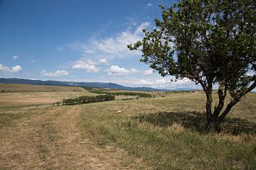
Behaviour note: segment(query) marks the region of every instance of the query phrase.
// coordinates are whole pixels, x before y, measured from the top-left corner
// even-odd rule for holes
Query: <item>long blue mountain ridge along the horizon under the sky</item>
[[[52,81],[52,80],[32,80],[32,79],[5,79],[0,78],[1,84],[34,84],[34,85],[52,85],[52,86],[87,86],[97,87],[104,89],[122,89],[132,91],[169,91],[166,89],[153,89],[150,87],[129,87],[122,86],[114,83],[101,83],[101,82],[76,82],[76,81]]]

